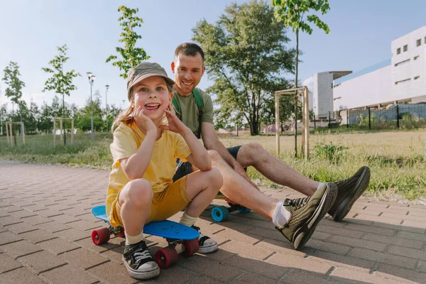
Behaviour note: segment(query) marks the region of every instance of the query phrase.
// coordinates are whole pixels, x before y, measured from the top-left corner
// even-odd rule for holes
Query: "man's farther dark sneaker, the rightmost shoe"
[[[370,169],[366,166],[361,167],[355,175],[347,180],[335,182],[337,185],[337,198],[329,214],[332,215],[334,221],[342,221],[346,214],[354,205],[359,197],[364,193],[370,182]]]

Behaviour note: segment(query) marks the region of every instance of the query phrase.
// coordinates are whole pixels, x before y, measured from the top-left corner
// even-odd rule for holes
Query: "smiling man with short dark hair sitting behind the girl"
[[[271,220],[295,249],[302,249],[324,214],[328,212],[334,221],[341,221],[366,190],[370,180],[368,167],[360,168],[347,180],[322,184],[290,168],[258,143],[226,149],[214,131],[212,99],[195,88],[205,71],[203,50],[195,43],[179,45],[171,67],[175,74],[175,108],[180,119],[196,136],[201,133],[204,147],[212,158],[212,166],[222,173],[224,185],[221,192],[229,200]],[[202,98],[201,107],[200,102],[197,104],[197,97]],[[275,200],[264,195],[244,170],[250,165],[269,180],[291,187],[307,197]],[[197,169],[190,163],[179,161],[173,180],[194,170]]]

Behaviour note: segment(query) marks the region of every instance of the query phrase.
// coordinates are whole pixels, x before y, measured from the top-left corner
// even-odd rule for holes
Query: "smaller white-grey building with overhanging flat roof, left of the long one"
[[[333,80],[350,74],[351,71],[329,71],[316,73],[303,81],[309,91],[309,106],[316,119],[328,119],[333,115]]]

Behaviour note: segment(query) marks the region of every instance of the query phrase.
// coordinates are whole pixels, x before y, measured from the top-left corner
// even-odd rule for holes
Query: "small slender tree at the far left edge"
[[[12,101],[12,117],[14,104],[19,104],[22,97],[22,88],[25,87],[25,83],[19,79],[21,73],[19,72],[19,66],[16,62],[9,62],[9,65],[4,68],[3,81],[8,86],[6,89],[6,97],[9,97]]]

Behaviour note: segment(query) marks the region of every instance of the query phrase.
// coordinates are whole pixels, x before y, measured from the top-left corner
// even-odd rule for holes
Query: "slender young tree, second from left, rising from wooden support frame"
[[[75,84],[72,84],[72,79],[81,76],[80,73],[75,72],[75,70],[68,72],[63,71],[64,64],[69,59],[67,57],[67,50],[67,45],[58,46],[59,54],[55,55],[55,58],[49,61],[49,65],[51,65],[52,68],[41,68],[44,72],[52,74],[52,77],[45,82],[45,87],[42,92],[53,90],[55,94],[62,94],[62,117],[67,117],[65,116],[65,95],[70,97],[70,92],[77,89]],[[66,144],[65,131],[64,144]]]

